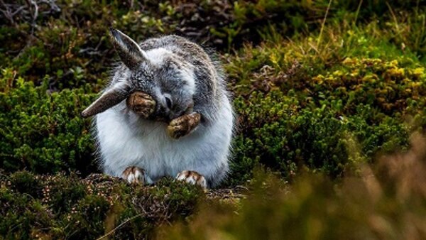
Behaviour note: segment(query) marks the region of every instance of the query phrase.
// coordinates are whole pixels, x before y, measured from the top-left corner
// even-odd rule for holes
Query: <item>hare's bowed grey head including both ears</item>
[[[124,77],[113,82],[94,103],[82,112],[92,116],[119,104],[132,92],[142,91],[155,100],[155,119],[171,120],[193,106],[195,92],[193,65],[166,48],[142,50],[121,31],[110,29],[111,42],[126,67]]]

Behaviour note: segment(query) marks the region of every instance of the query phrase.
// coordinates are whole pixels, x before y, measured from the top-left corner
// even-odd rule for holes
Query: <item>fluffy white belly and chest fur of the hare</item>
[[[104,172],[121,177],[127,167],[136,166],[145,170],[147,183],[175,177],[182,170],[215,179],[219,170],[227,170],[232,126],[232,109],[225,95],[214,122],[179,139],[168,136],[166,124],[141,119],[125,102],[96,116]]]

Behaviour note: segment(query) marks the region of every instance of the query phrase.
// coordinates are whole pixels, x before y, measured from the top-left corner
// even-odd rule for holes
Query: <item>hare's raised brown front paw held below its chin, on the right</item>
[[[186,114],[173,119],[167,127],[167,132],[172,138],[186,136],[200,124],[201,115],[197,112]]]

